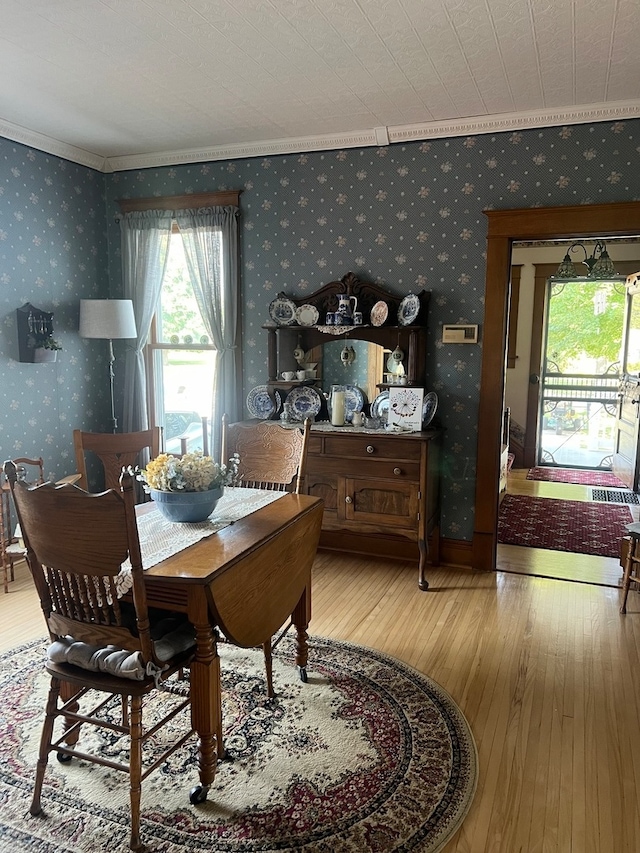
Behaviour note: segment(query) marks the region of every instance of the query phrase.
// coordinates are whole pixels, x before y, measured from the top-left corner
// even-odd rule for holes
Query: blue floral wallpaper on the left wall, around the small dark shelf
[[[0,139],[0,462],[42,456],[55,478],[75,428],[110,425],[106,342],[78,337],[80,299],[108,294],[104,194],[104,175]],[[55,364],[18,361],[26,302],[54,312]]]

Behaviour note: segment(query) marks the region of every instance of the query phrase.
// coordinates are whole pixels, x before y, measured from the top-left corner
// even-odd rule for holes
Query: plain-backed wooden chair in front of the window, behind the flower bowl
[[[160,427],[140,432],[101,433],[73,431],[73,447],[76,454],[76,466],[80,472],[78,485],[88,490],[86,453],[95,454],[104,468],[105,489],[118,489],[122,468],[144,464],[140,456],[148,450],[154,459],[160,453]]]

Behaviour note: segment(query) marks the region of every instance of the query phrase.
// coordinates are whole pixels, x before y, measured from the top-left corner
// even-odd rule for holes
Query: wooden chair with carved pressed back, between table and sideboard
[[[223,415],[220,458],[226,463],[234,453],[239,455],[239,486],[300,494],[304,485],[310,429],[308,418],[301,429],[296,429],[283,427],[275,421],[230,424],[227,415]],[[267,640],[262,646],[269,698],[275,695],[273,650],[290,627],[287,625],[275,640]],[[304,675],[302,677],[305,678]]]

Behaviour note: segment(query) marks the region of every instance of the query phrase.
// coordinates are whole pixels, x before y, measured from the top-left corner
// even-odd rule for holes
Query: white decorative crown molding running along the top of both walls
[[[330,151],[346,148],[379,147],[421,139],[439,139],[455,136],[475,136],[483,133],[503,133],[532,127],[554,127],[590,122],[621,121],[640,117],[640,100],[617,101],[608,104],[590,104],[566,107],[560,110],[530,110],[528,112],[502,113],[494,116],[474,116],[450,121],[422,122],[420,124],[375,127],[362,131],[325,134],[320,136],[272,139],[260,142],[213,145],[182,151],[161,151],[149,154],[132,154],[103,157],[82,148],[76,148],[19,127],[0,119],[0,136],[12,139],[54,154],[73,163],[88,166],[99,172],[123,172],[132,169],[151,169],[159,166],[180,166],[189,163],[216,160],[237,160],[249,157],[273,157],[281,154],[304,154],[313,151]]]

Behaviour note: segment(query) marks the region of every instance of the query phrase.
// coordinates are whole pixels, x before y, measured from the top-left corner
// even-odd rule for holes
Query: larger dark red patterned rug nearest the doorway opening
[[[632,521],[626,506],[505,495],[498,516],[498,542],[618,557],[625,525]]]

